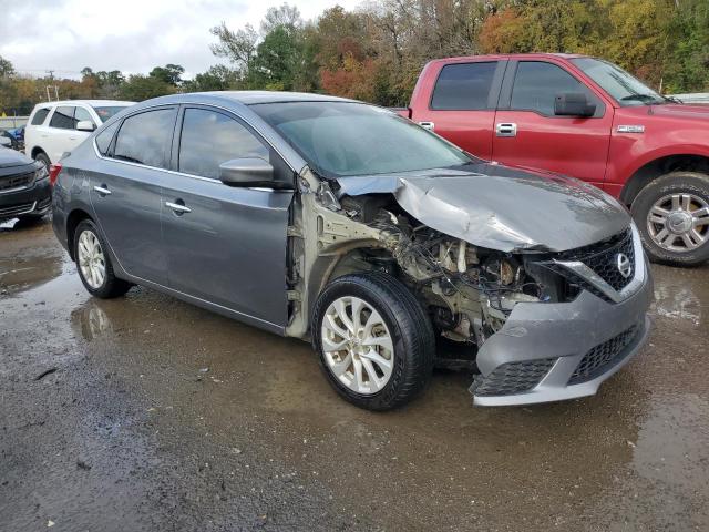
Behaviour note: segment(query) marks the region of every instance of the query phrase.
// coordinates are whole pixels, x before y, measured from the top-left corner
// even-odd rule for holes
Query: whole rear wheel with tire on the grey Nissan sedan
[[[92,296],[110,299],[125,294],[131,284],[113,274],[106,245],[96,225],[84,219],[74,232],[74,257],[79,277]]]

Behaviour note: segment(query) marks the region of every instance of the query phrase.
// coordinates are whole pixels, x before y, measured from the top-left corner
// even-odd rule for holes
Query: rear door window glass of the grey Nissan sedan
[[[131,163],[167,168],[175,114],[175,109],[158,109],[125,119],[115,140],[113,156]]]

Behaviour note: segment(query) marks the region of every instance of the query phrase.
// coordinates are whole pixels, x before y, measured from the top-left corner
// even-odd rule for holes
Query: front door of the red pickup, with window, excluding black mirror
[[[592,117],[556,116],[563,92],[583,92],[596,104]],[[551,61],[511,61],[495,115],[492,158],[571,175],[603,185],[613,106]]]

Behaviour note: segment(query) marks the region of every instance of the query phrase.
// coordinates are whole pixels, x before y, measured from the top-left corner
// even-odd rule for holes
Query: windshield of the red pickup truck
[[[583,70],[588,78],[598,83],[623,106],[666,103],[668,101],[637,78],[607,61],[577,58],[572,59],[572,63]]]

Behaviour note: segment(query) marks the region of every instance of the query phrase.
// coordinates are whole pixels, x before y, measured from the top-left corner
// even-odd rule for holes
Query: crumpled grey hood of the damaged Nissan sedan
[[[340,194],[392,193],[429,227],[501,252],[574,249],[630,224],[625,207],[593,185],[492,163],[337,181]]]

